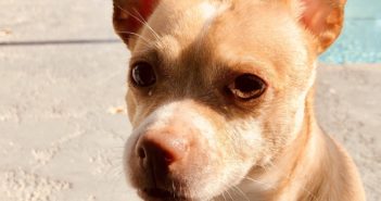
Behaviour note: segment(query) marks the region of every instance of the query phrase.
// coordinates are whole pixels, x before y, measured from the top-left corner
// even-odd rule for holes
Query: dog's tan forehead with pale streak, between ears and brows
[[[285,4],[270,0],[162,1],[149,25],[162,37],[157,40],[152,29],[145,28],[144,40],[155,41],[164,58],[180,61],[187,68],[189,65],[182,64],[201,67],[206,62],[230,62],[240,67],[245,60],[263,64],[258,71],[272,73],[277,79],[287,76],[288,67],[304,70],[313,60],[304,46],[303,28]],[[142,40],[140,48],[145,47]]]

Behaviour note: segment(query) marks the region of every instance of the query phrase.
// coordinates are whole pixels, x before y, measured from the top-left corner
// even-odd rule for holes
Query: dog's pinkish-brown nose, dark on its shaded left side
[[[170,165],[185,160],[189,140],[172,133],[150,131],[140,137],[136,148],[141,167],[161,177],[168,173]]]

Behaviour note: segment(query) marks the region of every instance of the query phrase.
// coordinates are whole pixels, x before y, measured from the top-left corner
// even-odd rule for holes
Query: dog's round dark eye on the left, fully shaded
[[[156,83],[155,72],[152,65],[147,62],[140,62],[132,66],[131,78],[139,87],[150,87]]]

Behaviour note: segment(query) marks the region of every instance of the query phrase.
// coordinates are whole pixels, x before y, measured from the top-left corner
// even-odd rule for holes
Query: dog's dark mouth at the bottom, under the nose
[[[186,197],[177,192],[160,189],[160,188],[143,188],[139,190],[139,196],[145,201],[187,201]]]

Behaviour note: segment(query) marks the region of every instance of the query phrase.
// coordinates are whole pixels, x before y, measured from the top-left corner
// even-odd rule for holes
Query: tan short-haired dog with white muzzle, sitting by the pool
[[[345,0],[114,0],[131,52],[125,173],[147,201],[364,201],[318,126]]]

